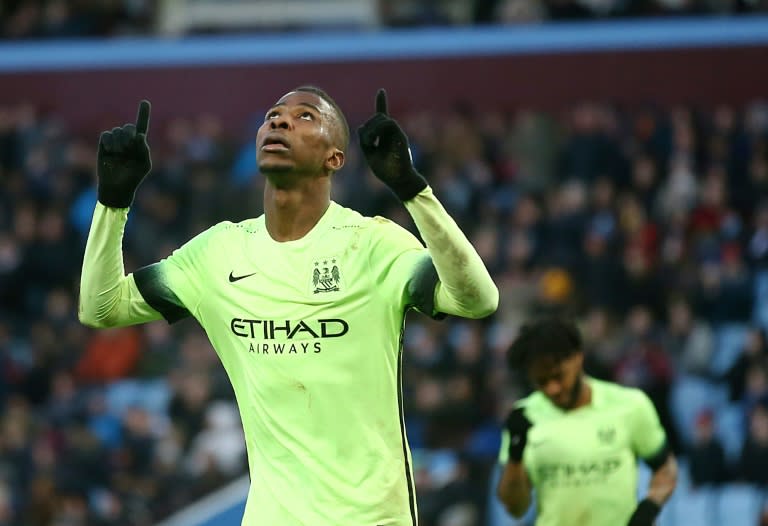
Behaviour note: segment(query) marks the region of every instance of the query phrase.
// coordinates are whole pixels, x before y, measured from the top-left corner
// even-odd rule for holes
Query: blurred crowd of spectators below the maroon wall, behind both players
[[[505,350],[547,312],[579,319],[590,374],[649,393],[695,484],[768,484],[768,105],[463,106],[402,122],[501,291],[484,321],[409,315],[422,524],[483,524],[500,422],[525,393]],[[128,271],[261,213],[252,137],[223,130],[213,115],[153,130]],[[231,389],[193,321],[77,321],[93,135],[0,108],[2,526],[148,525],[246,473]],[[413,228],[355,146],[334,199]]]

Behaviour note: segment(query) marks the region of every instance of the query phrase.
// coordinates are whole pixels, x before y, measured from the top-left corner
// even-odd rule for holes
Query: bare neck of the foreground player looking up
[[[327,176],[306,179],[292,186],[276,186],[267,178],[264,187],[267,232],[275,241],[301,239],[320,221],[330,203]]]

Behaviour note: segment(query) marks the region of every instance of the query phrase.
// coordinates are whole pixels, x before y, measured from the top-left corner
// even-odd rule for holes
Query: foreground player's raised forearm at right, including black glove
[[[405,204],[419,229],[439,277],[435,309],[482,318],[492,314],[499,291],[482,259],[413,166],[408,137],[387,112],[384,90],[376,112],[358,130],[360,146],[374,175]]]

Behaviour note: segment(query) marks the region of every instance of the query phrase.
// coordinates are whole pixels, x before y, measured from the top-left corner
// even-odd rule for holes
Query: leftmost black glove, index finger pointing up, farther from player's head
[[[136,124],[125,124],[99,137],[96,174],[98,198],[104,206],[128,208],[141,181],[152,169],[147,144],[149,101],[139,103]]]

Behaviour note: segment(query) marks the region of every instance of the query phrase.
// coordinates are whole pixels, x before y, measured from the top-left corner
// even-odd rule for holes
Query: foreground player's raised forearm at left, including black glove
[[[136,124],[99,137],[98,203],[83,257],[78,317],[90,327],[116,327],[159,319],[123,266],[123,231],[128,208],[152,168],[147,144],[150,104],[141,101]]]

